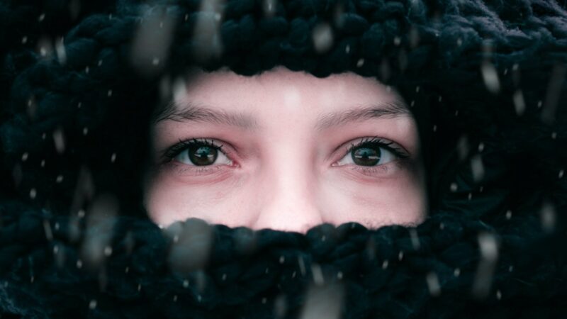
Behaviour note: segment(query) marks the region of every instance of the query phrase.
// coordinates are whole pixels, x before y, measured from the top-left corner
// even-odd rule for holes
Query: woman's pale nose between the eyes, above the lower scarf
[[[262,172],[260,207],[252,228],[305,233],[322,223],[315,194],[317,178],[308,152],[279,147],[269,162]]]

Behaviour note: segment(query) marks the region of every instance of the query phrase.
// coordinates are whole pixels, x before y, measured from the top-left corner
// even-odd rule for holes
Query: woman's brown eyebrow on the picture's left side
[[[162,110],[153,116],[154,123],[170,120],[177,122],[210,122],[245,129],[258,127],[256,120],[250,114],[213,110],[211,108],[197,106],[191,102],[186,102],[181,105],[181,109],[178,109],[177,106],[178,104],[173,101],[167,103]]]

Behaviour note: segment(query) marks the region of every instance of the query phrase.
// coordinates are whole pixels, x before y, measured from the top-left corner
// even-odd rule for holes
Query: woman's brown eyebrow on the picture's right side
[[[317,125],[318,130],[342,126],[347,123],[366,121],[373,118],[395,118],[399,116],[410,116],[412,113],[408,106],[400,101],[382,102],[374,106],[353,108],[351,110],[327,113],[320,116]]]

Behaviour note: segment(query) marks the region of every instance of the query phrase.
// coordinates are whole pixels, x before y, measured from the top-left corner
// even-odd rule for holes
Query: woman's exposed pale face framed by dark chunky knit
[[[305,233],[425,217],[415,120],[357,74],[197,72],[157,116],[153,146],[145,205],[160,225],[196,217]]]

